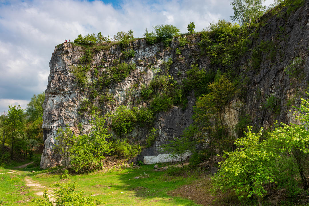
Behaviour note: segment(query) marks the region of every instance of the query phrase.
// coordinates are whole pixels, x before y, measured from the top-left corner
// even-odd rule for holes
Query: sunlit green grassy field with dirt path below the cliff
[[[102,205],[199,205],[186,198],[167,195],[197,180],[197,173],[188,172],[185,177],[170,176],[167,171],[154,170],[153,166],[71,175],[65,180],[60,180],[58,174],[50,174],[49,170],[40,170],[38,167],[0,168],[0,205],[35,205],[30,200],[41,198],[44,189],[52,190],[52,183],[66,183],[69,180],[77,182],[76,192],[84,191],[85,195],[94,193],[95,198],[104,201]]]

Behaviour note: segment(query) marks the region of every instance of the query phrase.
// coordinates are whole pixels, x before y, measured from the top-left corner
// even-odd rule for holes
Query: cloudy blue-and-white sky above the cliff
[[[49,60],[57,44],[78,34],[113,36],[134,31],[142,37],[158,24],[181,33],[194,22],[201,31],[210,22],[230,20],[231,0],[0,0],[0,113],[8,105],[24,109],[46,89]],[[265,5],[273,3],[267,0]]]

